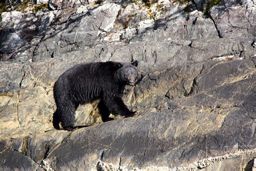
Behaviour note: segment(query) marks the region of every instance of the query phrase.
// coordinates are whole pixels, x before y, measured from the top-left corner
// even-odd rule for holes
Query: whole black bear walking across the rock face
[[[53,113],[53,126],[59,130],[75,130],[75,111],[79,104],[100,98],[98,104],[103,122],[110,113],[133,116],[121,98],[125,85],[134,86],[138,77],[138,61],[132,63],[93,62],[76,65],[59,76],[53,87],[57,109]]]

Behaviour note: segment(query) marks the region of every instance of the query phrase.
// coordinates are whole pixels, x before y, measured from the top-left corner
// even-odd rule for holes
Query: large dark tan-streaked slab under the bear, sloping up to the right
[[[61,170],[93,168],[98,159],[126,168],[172,168],[255,148],[254,85],[255,75],[170,102],[180,105],[176,109],[143,112],[77,130],[46,160]]]

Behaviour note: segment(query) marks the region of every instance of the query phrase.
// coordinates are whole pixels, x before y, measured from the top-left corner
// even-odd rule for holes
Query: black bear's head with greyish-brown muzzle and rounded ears
[[[122,63],[116,72],[116,79],[126,85],[134,86],[138,77],[138,61],[132,63]]]

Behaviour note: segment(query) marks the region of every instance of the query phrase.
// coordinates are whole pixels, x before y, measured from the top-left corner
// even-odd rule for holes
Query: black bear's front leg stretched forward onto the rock
[[[117,96],[107,96],[103,99],[103,103],[107,110],[114,116],[122,115],[125,117],[131,117],[136,114],[136,111],[130,111],[124,104],[122,98]]]

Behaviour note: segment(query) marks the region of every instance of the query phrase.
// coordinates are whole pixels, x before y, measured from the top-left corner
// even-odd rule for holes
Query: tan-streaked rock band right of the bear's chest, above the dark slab
[[[165,106],[163,102],[158,103],[154,98],[160,96],[160,99],[164,97],[176,99],[191,96],[234,82],[236,80],[234,77],[237,79],[247,77],[254,71],[252,61],[231,61],[231,63],[187,62],[186,65],[182,63],[164,72],[154,72],[144,76],[140,86],[134,88],[135,101],[143,105],[143,108]],[[239,69],[240,67],[242,69]]]

